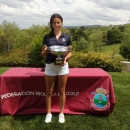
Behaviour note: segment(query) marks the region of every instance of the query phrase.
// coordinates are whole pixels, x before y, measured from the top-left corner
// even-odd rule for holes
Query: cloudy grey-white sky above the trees
[[[130,0],[0,0],[0,24],[48,25],[54,13],[63,26],[122,25],[130,22]]]

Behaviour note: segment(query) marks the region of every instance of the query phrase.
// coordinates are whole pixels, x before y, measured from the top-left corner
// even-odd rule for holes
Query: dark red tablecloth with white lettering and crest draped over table
[[[41,68],[11,68],[0,75],[1,114],[46,113],[45,80]],[[111,76],[100,68],[70,68],[66,114],[109,115],[115,105]],[[52,113],[59,112],[57,79]]]

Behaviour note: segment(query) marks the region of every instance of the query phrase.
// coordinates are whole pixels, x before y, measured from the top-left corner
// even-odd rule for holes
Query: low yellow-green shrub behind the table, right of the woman
[[[71,68],[102,68],[105,71],[121,72],[121,63],[119,60],[110,56],[110,54],[102,54],[96,52],[88,52],[87,54],[74,53],[69,61]]]

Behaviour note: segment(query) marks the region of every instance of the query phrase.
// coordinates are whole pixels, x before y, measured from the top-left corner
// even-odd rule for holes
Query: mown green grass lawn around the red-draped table
[[[1,68],[3,73],[9,68]],[[44,123],[45,115],[0,116],[0,130],[129,130],[130,129],[130,73],[109,72],[112,76],[116,105],[107,116],[66,115],[64,124],[58,123],[58,115],[52,122]],[[7,106],[8,107],[8,106]]]

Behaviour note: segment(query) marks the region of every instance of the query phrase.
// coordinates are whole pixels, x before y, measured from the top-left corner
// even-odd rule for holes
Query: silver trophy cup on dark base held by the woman
[[[64,56],[68,53],[69,48],[67,46],[50,46],[48,49],[51,51],[52,54],[57,55],[57,58],[55,60],[55,65],[62,65],[63,58],[61,56]]]

